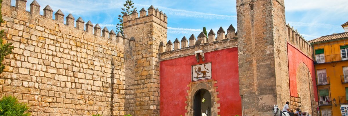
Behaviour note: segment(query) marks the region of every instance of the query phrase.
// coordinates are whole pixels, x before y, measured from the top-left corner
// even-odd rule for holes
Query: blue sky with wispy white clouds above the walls
[[[27,10],[33,0],[27,0]],[[205,26],[207,31],[227,29],[230,24],[237,29],[236,0],[133,0],[138,11],[153,5],[168,16],[168,40],[195,36]],[[61,9],[65,16],[82,17],[87,23],[99,23],[109,30],[116,29],[117,15],[124,0],[37,0],[42,9],[46,5],[55,11]],[[15,5],[12,0],[11,5]],[[311,40],[332,33],[344,32],[341,24],[348,21],[347,0],[285,0],[286,22],[306,39]]]

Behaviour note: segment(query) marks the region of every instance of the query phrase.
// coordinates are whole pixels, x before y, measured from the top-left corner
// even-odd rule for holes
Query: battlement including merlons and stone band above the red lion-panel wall
[[[222,27],[215,32],[211,29],[208,33],[208,40],[203,31],[197,36],[191,35],[189,40],[184,36],[180,41],[178,38],[174,42],[169,40],[167,44],[160,42],[159,52],[160,60],[169,60],[177,57],[194,55],[195,51],[203,50],[203,52],[211,52],[219,49],[237,47],[237,33],[232,25],[227,29],[227,34]],[[181,44],[181,46],[180,46]]]

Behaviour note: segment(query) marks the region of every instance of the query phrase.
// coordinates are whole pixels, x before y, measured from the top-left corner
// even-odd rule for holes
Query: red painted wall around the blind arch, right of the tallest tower
[[[292,44],[287,44],[288,52],[288,63],[289,63],[289,80],[290,80],[290,96],[298,97],[297,92],[297,83],[296,83],[296,73],[299,67],[299,64],[303,62],[307,65],[309,72],[313,80],[313,89],[315,100],[318,101],[318,92],[316,86],[316,77],[315,77],[315,68],[314,62],[307,55],[303,54],[299,49],[294,47]]]

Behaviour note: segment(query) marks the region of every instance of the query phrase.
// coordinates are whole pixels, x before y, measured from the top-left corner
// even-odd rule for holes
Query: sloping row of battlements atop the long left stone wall
[[[120,43],[123,41],[122,39],[126,38],[117,40],[118,38],[113,30],[109,31],[106,27],[101,30],[101,27],[98,24],[94,26],[90,21],[85,24],[82,17],[77,18],[75,21],[75,17],[72,14],[69,14],[65,17],[66,23],[64,24],[65,14],[60,9],[54,13],[55,19],[52,19],[54,10],[49,5],[43,9],[44,14],[40,15],[41,6],[35,0],[30,4],[30,11],[26,11],[26,2],[26,0],[16,0],[16,6],[13,7],[10,5],[11,0],[3,0],[2,13],[4,14],[5,21],[7,19],[6,17],[8,16],[11,18],[16,18],[19,21],[39,25],[50,30],[61,31],[62,33],[75,34],[79,36],[83,35],[82,37],[86,37],[87,35],[93,37],[94,35],[95,38],[104,42],[110,42],[117,45],[123,44],[122,46],[129,45],[128,42]]]

